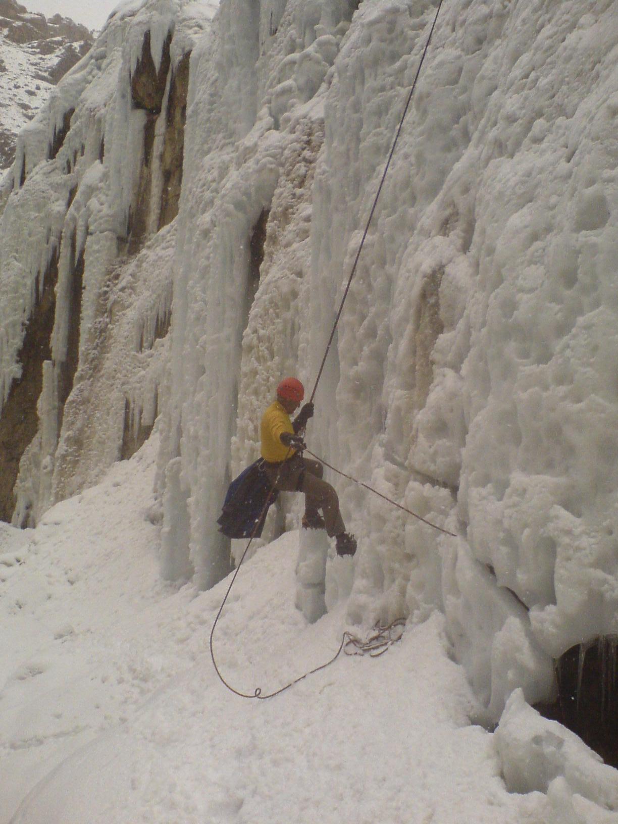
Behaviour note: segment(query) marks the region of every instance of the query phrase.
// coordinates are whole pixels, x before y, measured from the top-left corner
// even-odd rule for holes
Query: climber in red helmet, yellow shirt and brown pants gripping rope
[[[313,404],[305,404],[296,419],[290,419],[304,396],[304,386],[296,377],[283,378],[277,386],[277,400],[263,414],[260,426],[265,472],[275,489],[304,492],[304,528],[325,529],[330,537],[335,536],[337,555],[353,555],[356,539],[345,531],[335,489],[322,480],[324,467],[302,456],[307,448],[302,432],[313,415]]]

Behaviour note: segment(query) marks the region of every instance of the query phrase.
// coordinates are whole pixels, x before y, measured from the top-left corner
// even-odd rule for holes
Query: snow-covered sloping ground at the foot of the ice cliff
[[[2,824],[616,821],[561,779],[549,796],[508,793],[438,612],[382,657],[342,655],[278,697],[227,691],[208,650],[227,581],[198,592],[159,576],[156,448],[35,530],[0,531]],[[242,691],[339,646],[341,610],[307,625],[294,608],[297,537],[241,567],[214,635]]]

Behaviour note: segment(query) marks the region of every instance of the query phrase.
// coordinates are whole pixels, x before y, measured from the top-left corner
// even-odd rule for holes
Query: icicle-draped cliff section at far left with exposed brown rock
[[[129,456],[157,416],[188,64],[215,8],[120,8],[19,136],[0,197],[0,517],[16,524]]]

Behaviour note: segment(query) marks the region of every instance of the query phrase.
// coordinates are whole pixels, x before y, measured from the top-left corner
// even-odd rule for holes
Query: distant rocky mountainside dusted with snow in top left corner
[[[0,2],[0,169],[12,164],[19,130],[92,42],[68,17],[46,20],[16,0]]]

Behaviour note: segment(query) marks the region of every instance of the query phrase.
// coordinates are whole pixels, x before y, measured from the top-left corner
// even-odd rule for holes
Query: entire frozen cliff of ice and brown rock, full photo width
[[[0,189],[3,520],[39,534],[156,424],[162,578],[211,591],[228,574],[244,546],[218,533],[225,489],[258,455],[279,379],[314,386],[437,11],[135,0],[110,16]],[[614,779],[595,784],[589,751],[565,766],[564,728],[531,707],[618,763],[603,738],[618,696],[617,58],[612,0],[442,4],[307,431],[318,456],[453,533],[330,475],[359,551],[342,568],[331,550],[327,619],[438,612],[475,721],[503,731],[496,769],[548,798],[564,779],[555,809],[563,791],[616,809],[590,789]],[[299,514],[282,496],[260,545]]]

